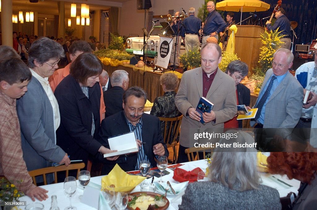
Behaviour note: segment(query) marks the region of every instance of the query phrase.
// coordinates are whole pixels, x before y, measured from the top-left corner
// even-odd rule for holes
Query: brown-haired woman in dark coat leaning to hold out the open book
[[[56,131],[57,144],[70,155],[70,159],[82,160],[86,165],[89,154],[102,158],[101,153],[112,152],[95,140],[100,129],[99,75],[102,66],[91,53],[78,55],[72,62],[70,75],[54,92],[61,111],[61,126]]]

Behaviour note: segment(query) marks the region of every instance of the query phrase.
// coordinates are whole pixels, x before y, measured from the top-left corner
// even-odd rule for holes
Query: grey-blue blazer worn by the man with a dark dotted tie
[[[262,87],[272,74],[273,69],[268,69]],[[291,73],[286,74],[266,103],[263,128],[294,128],[301,117],[303,87]],[[265,90],[261,88],[259,95],[262,91]],[[256,100],[256,105],[259,100]],[[250,125],[253,127],[255,121],[251,121]]]

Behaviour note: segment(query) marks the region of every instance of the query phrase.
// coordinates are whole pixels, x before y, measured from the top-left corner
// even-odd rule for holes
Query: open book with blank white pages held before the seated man
[[[108,143],[111,150],[118,150],[118,152],[104,154],[104,158],[139,151],[134,131],[110,137],[108,138]]]

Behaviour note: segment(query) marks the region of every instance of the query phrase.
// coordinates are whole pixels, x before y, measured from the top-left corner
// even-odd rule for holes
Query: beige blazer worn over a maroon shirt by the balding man
[[[206,98],[215,106],[216,121],[203,125],[186,116],[190,107],[196,108],[200,97],[203,96],[203,69],[201,67],[186,71],[180,82],[175,104],[184,115],[180,131],[180,145],[193,147],[197,140],[194,133],[203,131],[223,132],[223,123],[232,119],[237,112],[236,88],[234,80],[219,68],[210,86]]]

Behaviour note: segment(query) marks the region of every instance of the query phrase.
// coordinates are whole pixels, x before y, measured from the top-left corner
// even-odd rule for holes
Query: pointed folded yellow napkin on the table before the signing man
[[[146,177],[127,174],[116,164],[107,176],[101,178],[101,187],[110,189],[109,186],[114,185],[115,192],[130,192],[145,179]]]

